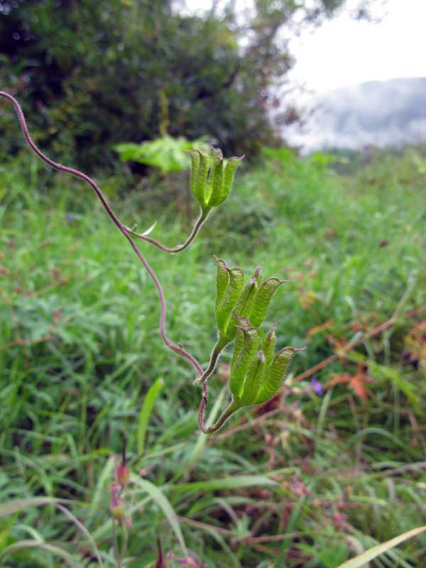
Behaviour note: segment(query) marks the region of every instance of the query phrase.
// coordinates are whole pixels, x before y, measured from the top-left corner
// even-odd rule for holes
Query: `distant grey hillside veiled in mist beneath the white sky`
[[[399,146],[426,140],[426,77],[371,81],[316,97],[290,142],[305,149]]]

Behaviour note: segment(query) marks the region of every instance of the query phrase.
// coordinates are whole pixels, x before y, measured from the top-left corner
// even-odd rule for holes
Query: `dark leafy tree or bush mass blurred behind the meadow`
[[[0,83],[23,100],[41,146],[89,170],[111,163],[114,143],[150,140],[167,123],[173,136],[256,155],[278,136],[268,111],[293,65],[285,38],[343,3],[256,0],[240,26],[232,3],[200,18],[171,0],[1,2]],[[0,114],[4,153],[9,126]]]

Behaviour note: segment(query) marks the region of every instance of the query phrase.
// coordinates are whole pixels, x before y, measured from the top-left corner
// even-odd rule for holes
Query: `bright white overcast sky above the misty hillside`
[[[187,0],[202,9],[206,0]],[[251,4],[240,0],[239,6]],[[380,23],[343,13],[291,42],[296,58],[290,80],[325,92],[371,80],[426,77],[426,0],[388,0]]]

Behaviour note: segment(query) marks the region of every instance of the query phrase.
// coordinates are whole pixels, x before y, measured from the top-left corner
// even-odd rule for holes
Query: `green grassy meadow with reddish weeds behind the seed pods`
[[[291,278],[265,323],[278,320],[279,346],[307,344],[287,395],[269,413],[239,413],[211,439],[197,429],[192,368],[160,340],[153,283],[89,188],[28,154],[2,165],[0,502],[72,501],[104,566],[115,567],[111,460],[126,439],[129,566],[155,564],[158,534],[165,551],[182,557],[186,547],[209,568],[334,568],[425,524],[424,344],[417,369],[402,364],[415,349],[410,329],[426,317],[407,316],[426,303],[421,157],[416,148],[379,154],[342,178],[321,155],[278,152],[237,177],[188,251],[170,257],[141,245],[165,289],[170,338],[203,364],[216,338],[213,253],[247,273],[264,261],[265,275]],[[162,208],[159,191],[170,200]],[[155,238],[182,242],[188,227],[176,215],[175,190],[120,192],[109,190],[109,200],[128,225],[145,229],[158,219]],[[346,384],[319,396],[310,378],[292,383],[334,353],[332,338],[357,339],[395,310],[395,324],[317,373],[325,385],[332,372],[367,365],[365,403]],[[138,459],[139,413],[159,377]],[[217,415],[228,393],[220,380],[211,385],[209,412]],[[63,510],[31,503],[0,518],[1,565],[59,567],[58,551],[96,565],[87,535]],[[26,540],[41,545],[15,550]],[[371,567],[418,567],[425,557],[420,535]]]

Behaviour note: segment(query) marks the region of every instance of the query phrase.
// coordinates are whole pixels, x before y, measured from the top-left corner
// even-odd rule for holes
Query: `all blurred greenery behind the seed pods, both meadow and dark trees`
[[[426,524],[425,148],[304,158],[286,148],[283,125],[299,116],[271,87],[292,65],[287,38],[343,3],[254,4],[241,23],[232,3],[199,17],[163,0],[0,2],[1,89],[52,158],[97,175],[128,226],[156,219],[155,238],[185,239],[196,214],[179,171],[187,140],[248,155],[189,250],[141,246],[169,300],[171,339],[207,364],[215,253],[291,278],[266,326],[278,320],[279,346],[307,345],[282,396],[206,439],[192,368],[161,342],[148,275],[89,189],[23,148],[2,101],[1,566],[99,564],[81,527],[36,501],[46,496],[67,499],[104,567],[117,566],[109,485],[124,440],[126,566],[153,568],[159,535],[197,567],[336,568]],[[211,381],[212,415],[226,404],[230,355]],[[425,557],[420,536],[369,566]]]

